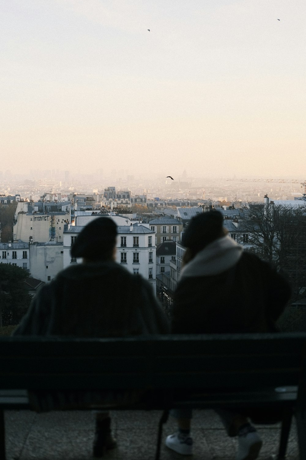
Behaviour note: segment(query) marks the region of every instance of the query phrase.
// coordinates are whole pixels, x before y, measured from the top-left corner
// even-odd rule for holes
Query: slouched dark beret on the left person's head
[[[71,248],[72,257],[91,261],[111,259],[116,244],[117,225],[109,217],[99,217],[87,224]]]

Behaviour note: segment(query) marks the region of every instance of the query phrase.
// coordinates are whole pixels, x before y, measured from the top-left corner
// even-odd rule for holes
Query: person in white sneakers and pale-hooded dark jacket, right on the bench
[[[183,269],[173,299],[172,333],[223,334],[276,332],[291,288],[255,254],[243,251],[223,227],[218,211],[191,219],[183,233]],[[236,460],[254,460],[262,441],[243,410],[217,410],[229,436],[238,437]],[[192,411],[173,410],[178,431],[168,448],[192,454]],[[267,415],[267,414],[266,414]]]

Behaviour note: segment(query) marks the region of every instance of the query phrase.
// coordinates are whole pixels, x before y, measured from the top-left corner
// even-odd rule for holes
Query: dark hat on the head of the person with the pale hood
[[[190,220],[182,235],[182,244],[195,254],[224,234],[223,215],[219,211],[209,211]]]

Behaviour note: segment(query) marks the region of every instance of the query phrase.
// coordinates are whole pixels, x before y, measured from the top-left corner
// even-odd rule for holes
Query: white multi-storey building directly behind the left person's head
[[[99,217],[99,216],[98,216]],[[113,218],[113,216],[110,216]],[[116,217],[116,216],[115,216]],[[83,226],[65,225],[63,267],[76,264],[82,259],[71,257],[70,249]],[[147,279],[154,292],[156,291],[156,246],[155,232],[148,226],[136,222],[130,225],[117,226],[116,261],[128,271],[139,274]]]

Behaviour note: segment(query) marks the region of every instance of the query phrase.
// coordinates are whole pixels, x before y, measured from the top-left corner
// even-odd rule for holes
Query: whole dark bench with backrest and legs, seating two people
[[[122,409],[163,410],[156,459],[168,410],[191,406],[235,410],[256,407],[265,408],[267,413],[280,409],[279,460],[285,457],[294,413],[300,459],[304,460],[305,357],[304,333],[0,338],[0,458],[5,459],[3,411],[30,408],[25,389],[134,389],[146,390],[148,397]]]

